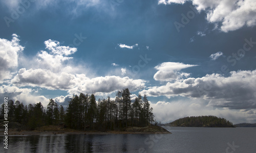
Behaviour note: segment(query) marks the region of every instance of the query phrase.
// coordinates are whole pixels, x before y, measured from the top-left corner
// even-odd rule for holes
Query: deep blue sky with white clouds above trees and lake
[[[0,98],[146,94],[162,123],[256,122],[256,1],[0,2]],[[1,102],[0,102],[1,103]]]

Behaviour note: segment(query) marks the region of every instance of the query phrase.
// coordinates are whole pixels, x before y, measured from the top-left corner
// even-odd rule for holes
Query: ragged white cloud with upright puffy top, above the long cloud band
[[[47,69],[54,73],[61,73],[65,71],[67,73],[86,73],[90,70],[86,63],[79,61],[74,63],[72,55],[76,52],[77,48],[71,48],[67,46],[59,46],[59,42],[55,40],[45,41],[45,50],[40,50],[34,57],[19,57],[19,67],[25,67],[26,69]],[[92,73],[90,73],[92,74]]]

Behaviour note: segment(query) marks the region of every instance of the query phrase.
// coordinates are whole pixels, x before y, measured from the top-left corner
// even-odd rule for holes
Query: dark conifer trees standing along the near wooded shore
[[[22,129],[34,130],[44,125],[62,125],[76,130],[122,130],[127,126],[146,126],[154,121],[153,108],[146,95],[139,94],[132,103],[128,88],[118,91],[115,99],[99,98],[94,94],[73,95],[66,109],[49,99],[46,108],[39,102],[24,106],[8,101],[8,120],[22,124]],[[4,104],[1,108],[4,117]]]

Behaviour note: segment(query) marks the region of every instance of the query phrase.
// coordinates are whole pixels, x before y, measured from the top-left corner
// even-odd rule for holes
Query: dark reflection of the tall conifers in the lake
[[[9,152],[130,152],[131,150],[138,150],[138,148],[144,145],[143,141],[140,141],[140,143],[138,142],[138,139],[137,139],[138,137],[143,140],[145,136],[130,135],[130,134],[9,136],[8,151]]]

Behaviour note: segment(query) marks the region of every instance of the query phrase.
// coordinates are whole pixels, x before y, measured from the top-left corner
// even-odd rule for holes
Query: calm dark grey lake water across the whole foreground
[[[256,152],[255,127],[163,127],[173,134],[9,136],[0,152]]]

